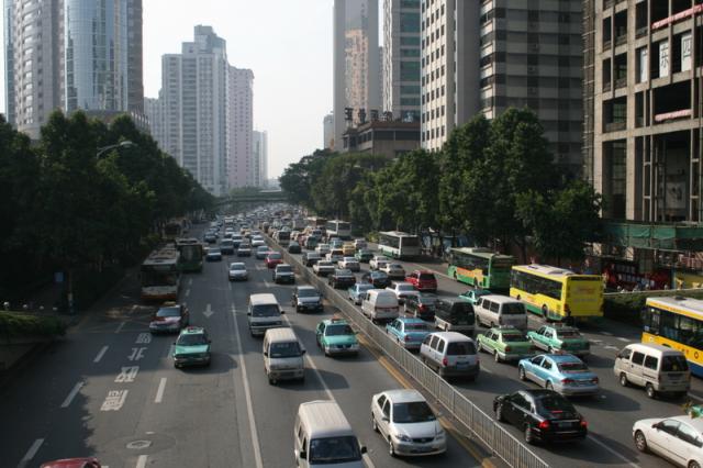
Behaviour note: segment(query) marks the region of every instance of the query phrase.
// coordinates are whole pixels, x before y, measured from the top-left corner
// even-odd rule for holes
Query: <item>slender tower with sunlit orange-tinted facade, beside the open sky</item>
[[[380,110],[380,57],[378,45],[378,0],[335,0],[333,37],[333,79],[335,115],[334,144],[341,149],[347,127],[345,108],[370,115]]]

